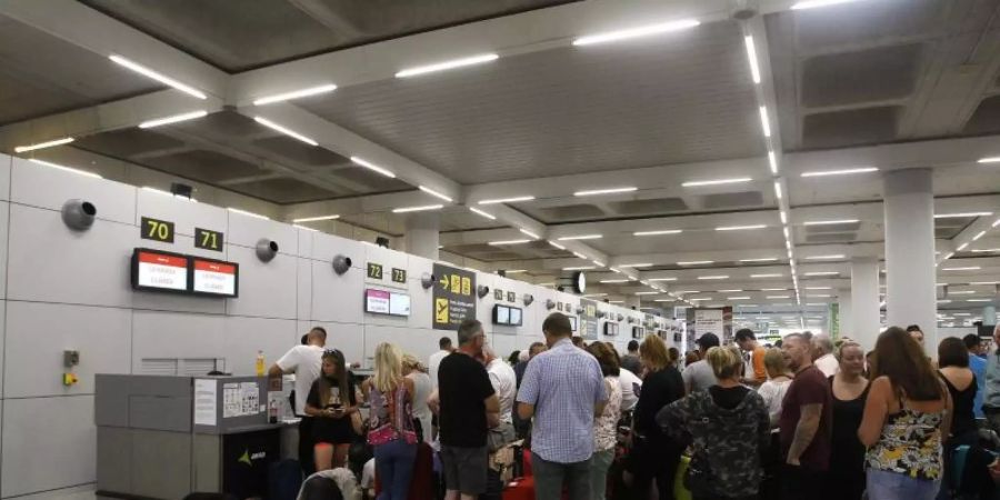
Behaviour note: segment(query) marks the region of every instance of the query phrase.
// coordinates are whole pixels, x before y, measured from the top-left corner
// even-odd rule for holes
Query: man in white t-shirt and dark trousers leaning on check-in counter
[[[296,374],[294,411],[299,421],[299,463],[307,476],[312,472],[312,418],[306,417],[306,398],[312,388],[312,382],[319,378],[322,370],[323,347],[327,344],[327,330],[314,327],[306,336],[304,346],[296,346],[289,349],[281,359],[276,362],[268,376],[278,378],[287,373]]]

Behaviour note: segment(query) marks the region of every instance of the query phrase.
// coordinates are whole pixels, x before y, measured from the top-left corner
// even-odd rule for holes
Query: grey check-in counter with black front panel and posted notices
[[[99,496],[267,497],[286,427],[269,421],[267,378],[98,374],[96,383]]]

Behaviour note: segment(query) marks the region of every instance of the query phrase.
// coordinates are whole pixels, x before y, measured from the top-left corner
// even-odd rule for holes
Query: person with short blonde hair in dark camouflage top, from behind
[[[756,499],[770,442],[768,408],[741,384],[743,359],[731,347],[706,352],[718,382],[666,407],[657,423],[694,452],[686,483],[694,500]]]

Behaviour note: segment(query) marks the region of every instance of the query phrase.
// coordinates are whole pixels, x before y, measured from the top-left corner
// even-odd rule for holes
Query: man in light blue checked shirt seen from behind
[[[593,419],[608,402],[597,359],[573,346],[569,318],[554,312],[542,323],[549,350],[536,356],[518,391],[518,414],[534,417],[531,469],[534,498],[590,500]]]

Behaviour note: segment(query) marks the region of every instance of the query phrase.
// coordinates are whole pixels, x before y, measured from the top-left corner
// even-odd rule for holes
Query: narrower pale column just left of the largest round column
[[[843,336],[858,341],[866,351],[874,349],[879,338],[879,261],[851,260],[851,322],[843,323]]]

